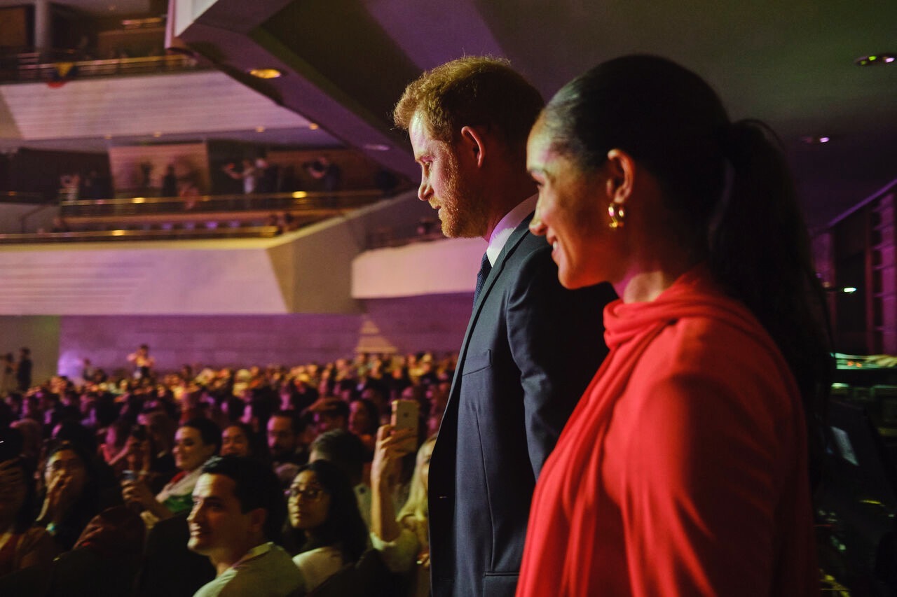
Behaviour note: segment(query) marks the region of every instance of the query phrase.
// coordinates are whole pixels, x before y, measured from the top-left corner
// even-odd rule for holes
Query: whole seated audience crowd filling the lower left
[[[138,353],[133,375],[85,361],[0,391],[0,594],[429,592],[454,357],[161,373]]]

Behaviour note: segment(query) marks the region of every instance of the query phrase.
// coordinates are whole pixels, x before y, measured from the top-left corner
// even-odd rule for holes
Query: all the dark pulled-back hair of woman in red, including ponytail
[[[657,178],[676,232],[753,312],[797,379],[811,449],[832,372],[821,284],[774,134],[729,121],[701,77],[658,56],[623,56],[567,83],[544,109],[553,149],[580,169],[629,153]],[[762,231],[762,233],[761,233]]]

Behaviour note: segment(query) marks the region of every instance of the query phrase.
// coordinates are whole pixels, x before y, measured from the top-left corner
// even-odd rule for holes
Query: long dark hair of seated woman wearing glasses
[[[330,496],[327,520],[317,529],[307,532],[302,551],[333,546],[343,551],[346,563],[354,562],[367,549],[368,529],[361,519],[358,500],[345,473],[334,463],[318,460],[300,467],[299,473],[315,473],[318,483]]]

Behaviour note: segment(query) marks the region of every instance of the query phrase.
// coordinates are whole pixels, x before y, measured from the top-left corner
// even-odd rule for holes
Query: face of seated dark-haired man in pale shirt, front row
[[[239,558],[253,547],[247,545],[251,516],[240,512],[236,487],[236,481],[225,475],[204,472],[199,476],[193,489],[193,509],[187,516],[189,549],[214,561],[233,554]]]

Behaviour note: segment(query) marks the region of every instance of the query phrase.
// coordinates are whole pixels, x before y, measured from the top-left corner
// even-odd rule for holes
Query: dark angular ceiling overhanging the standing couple
[[[822,225],[897,177],[897,4],[803,0],[173,0],[174,31],[234,79],[415,179],[390,111],[422,69],[507,56],[547,96],[598,62],[670,57],[704,76],[734,118],[782,137],[808,220]],[[258,67],[283,72],[262,81]],[[806,143],[826,136],[830,143]]]

